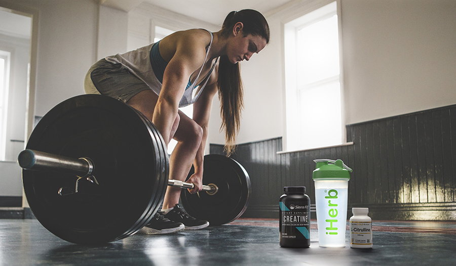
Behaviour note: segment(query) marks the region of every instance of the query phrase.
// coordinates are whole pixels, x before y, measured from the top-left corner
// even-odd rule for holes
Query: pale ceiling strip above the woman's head
[[[99,0],[101,4],[130,11],[141,3],[151,4],[214,25],[221,25],[231,11],[255,9],[263,15],[290,0]],[[291,0],[295,1],[295,0]]]

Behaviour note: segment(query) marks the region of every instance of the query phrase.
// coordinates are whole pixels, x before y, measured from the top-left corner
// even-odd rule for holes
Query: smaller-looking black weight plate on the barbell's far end
[[[218,192],[190,194],[184,189],[180,194],[182,205],[188,214],[208,220],[211,225],[230,223],[247,208],[251,189],[249,175],[237,161],[218,154],[204,156],[203,167],[203,184],[215,184]],[[187,179],[194,172],[192,167]]]

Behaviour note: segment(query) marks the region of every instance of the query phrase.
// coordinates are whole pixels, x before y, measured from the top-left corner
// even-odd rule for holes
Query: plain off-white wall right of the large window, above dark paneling
[[[342,1],[347,124],[456,104],[456,1]]]

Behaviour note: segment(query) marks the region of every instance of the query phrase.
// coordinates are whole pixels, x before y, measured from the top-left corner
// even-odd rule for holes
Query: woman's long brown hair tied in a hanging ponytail
[[[223,21],[222,35],[228,37],[236,23],[244,25],[244,36],[261,36],[269,43],[269,25],[256,10],[232,11]],[[225,152],[230,156],[236,150],[236,136],[240,129],[241,111],[244,108],[243,85],[239,64],[232,64],[227,56],[221,56],[218,63],[218,98],[220,99],[220,130],[225,130]]]

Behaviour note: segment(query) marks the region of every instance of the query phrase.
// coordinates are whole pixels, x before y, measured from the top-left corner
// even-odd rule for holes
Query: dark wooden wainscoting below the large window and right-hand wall
[[[374,219],[456,219],[456,105],[347,125],[347,142],[283,154],[282,138],[239,145],[232,158],[252,184],[244,217],[278,217],[284,186],[306,186],[315,202],[313,160],[341,159],[353,168],[349,217],[356,206]]]

